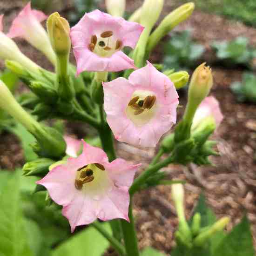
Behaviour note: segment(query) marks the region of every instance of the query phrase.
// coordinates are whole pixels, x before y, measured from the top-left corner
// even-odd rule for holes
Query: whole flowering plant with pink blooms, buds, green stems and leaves
[[[231,248],[232,255],[244,253],[245,249],[247,255],[254,254],[246,219],[238,228],[226,235],[223,229],[229,218],[223,217],[216,221],[212,217],[213,221],[203,221],[204,212],[210,212],[206,206],[203,206],[201,210],[196,211],[197,214],[192,221],[188,222],[183,209],[183,182],[168,180],[166,173],[160,171],[169,163],[210,164],[209,155],[217,155],[213,148],[216,141],[210,141],[209,135],[219,126],[223,116],[216,99],[208,96],[213,86],[213,77],[211,69],[205,63],[196,68],[189,83],[189,102],[185,115],[176,125],[174,132],[163,138],[159,151],[141,175],[133,181],[135,171],[140,166],[139,162],[130,163],[120,158],[116,159],[112,132],[116,140],[142,148],[155,147],[160,137],[176,121],[178,95],[175,88],[180,88],[188,82],[186,72],[174,73],[170,69],[169,72],[166,70],[165,74],[162,74],[155,68],[157,65],[147,61],[147,57],[157,42],[174,25],[188,18],[194,5],[188,3],[170,13],[151,34],[163,2],[159,1],[157,6],[155,4],[155,1],[145,1],[139,18],[134,15],[130,18],[130,22],[134,20],[139,23],[126,23],[127,21],[120,18],[93,11],[85,14],[70,31],[67,21],[58,13],[53,13],[47,20],[50,44],[47,41],[48,37],[44,37],[44,45],[37,45],[37,38],[31,38],[31,34],[22,34],[27,40],[32,39],[31,43],[53,62],[56,67],[55,73],[38,67],[20,54],[13,41],[1,34],[10,46],[7,49],[15,53],[5,55],[7,52],[2,52],[7,68],[16,73],[34,93],[23,97],[20,103],[26,106],[27,112],[37,116],[37,121],[16,103],[3,82],[0,106],[34,135],[35,143],[32,148],[38,156],[34,161],[27,161],[23,167],[25,176],[37,177],[34,180],[29,180],[29,177],[20,178],[20,170],[12,176],[7,173],[2,174],[3,189],[0,196],[4,207],[1,216],[3,242],[0,248],[3,255],[79,255],[79,253],[101,255],[109,243],[120,255],[139,255],[132,198],[136,192],[141,193],[141,190],[159,184],[172,184],[173,201],[179,218],[179,227],[175,232],[177,248],[173,253],[204,255],[207,252],[211,255],[229,255]],[[159,9],[155,20],[148,20],[148,12],[155,10],[156,7]],[[123,10],[123,7],[118,10]],[[115,9],[115,15],[118,10]],[[109,12],[111,13],[111,8]],[[38,15],[37,18],[44,17],[43,13],[31,10],[29,4],[23,10],[24,13],[27,13],[31,19],[34,15]],[[104,22],[101,18],[104,18]],[[109,26],[104,27],[108,19],[113,31],[107,30]],[[119,21],[119,25],[123,22],[124,35],[118,30],[116,20]],[[84,23],[85,21],[87,23]],[[85,24],[89,22],[95,22],[93,27],[98,30],[95,28],[95,31],[85,33],[84,30],[88,32]],[[15,22],[13,24],[15,25]],[[34,24],[38,25],[38,20],[34,20]],[[17,36],[15,33],[18,32],[20,33],[15,31],[14,26],[13,31],[11,28],[8,35],[15,37]],[[75,67],[68,62],[71,47],[69,32],[77,61],[76,72]],[[133,33],[133,37],[128,38],[125,32]],[[38,33],[42,36],[45,34],[41,27]],[[126,43],[130,47],[135,47],[129,56],[121,52],[121,48]],[[135,71],[121,72],[122,69],[128,68]],[[108,76],[107,72],[116,71],[117,74]],[[80,120],[88,123],[98,132],[105,153],[101,148],[93,147],[85,141],[63,136],[59,125],[50,127],[47,122],[42,122],[49,118]],[[164,154],[164,160],[160,160]],[[26,221],[30,211],[25,210],[27,217],[21,214],[19,193],[24,190],[25,193],[41,190],[38,193],[43,193],[46,201],[51,204],[52,209],[45,209],[42,202],[43,207],[35,214],[41,218],[40,222],[54,219],[54,223],[59,223],[60,218],[62,224],[59,225],[65,227],[67,222],[61,217],[61,207],[58,206],[62,205],[62,214],[67,217],[71,231],[84,224],[91,224],[92,227],[68,239],[58,248],[52,249],[53,242],[42,241],[40,229],[33,221],[29,224]],[[11,200],[7,196],[10,194]],[[29,202],[28,195],[27,200]],[[39,198],[36,200],[39,205],[40,200]],[[43,209],[48,212],[48,216]],[[209,213],[209,216],[211,218],[212,215]],[[108,223],[94,222],[96,218],[102,221],[110,220],[111,227]],[[54,228],[53,223],[49,223],[48,226]],[[24,228],[28,229],[27,233]],[[95,229],[103,237],[95,232]],[[218,243],[214,238],[217,232],[222,234],[218,236]],[[237,233],[239,235],[242,233],[245,237],[243,240],[245,244],[240,245],[239,248],[234,247],[240,239],[240,237],[237,239]],[[27,234],[27,237],[24,234]],[[56,239],[54,243],[59,243],[60,240],[66,240],[68,235],[62,233],[61,238],[57,234],[54,236],[57,236],[57,239],[54,237]],[[33,239],[34,237],[39,237],[38,241]],[[214,246],[212,246],[213,240]],[[5,241],[12,243],[5,244]],[[81,247],[84,243],[84,247]],[[230,246],[225,246],[227,244]],[[141,255],[161,255],[161,253],[146,248],[141,251]]]

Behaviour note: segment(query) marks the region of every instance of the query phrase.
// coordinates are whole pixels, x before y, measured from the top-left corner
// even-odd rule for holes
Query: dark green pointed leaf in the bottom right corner
[[[222,240],[213,256],[254,256],[252,236],[247,217]]]

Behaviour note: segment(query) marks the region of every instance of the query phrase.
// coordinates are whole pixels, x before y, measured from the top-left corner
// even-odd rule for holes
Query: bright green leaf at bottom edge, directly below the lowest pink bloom
[[[107,222],[101,225],[110,232]],[[108,240],[96,229],[88,227],[57,247],[52,256],[101,256],[108,246]]]

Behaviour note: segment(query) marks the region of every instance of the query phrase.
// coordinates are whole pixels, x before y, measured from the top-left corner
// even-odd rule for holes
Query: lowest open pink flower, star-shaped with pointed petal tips
[[[108,162],[100,149],[82,140],[83,151],[77,158],[53,168],[38,181],[47,188],[54,202],[63,206],[72,232],[76,226],[122,218],[129,221],[129,192],[140,164],[131,165],[123,159]]]

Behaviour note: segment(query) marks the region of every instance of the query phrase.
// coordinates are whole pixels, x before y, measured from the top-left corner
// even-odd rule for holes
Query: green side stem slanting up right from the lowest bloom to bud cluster
[[[147,170],[145,170],[139,177],[137,177],[135,179],[135,181],[133,182],[133,185],[130,187],[129,192],[130,195],[134,195],[134,193],[138,190],[140,190],[141,185],[143,185],[143,183],[146,182],[146,180],[153,175],[154,173],[156,173],[158,170],[160,170],[161,168],[167,166],[169,163],[173,162],[173,158],[171,156],[169,156],[168,158],[166,158],[165,160],[163,160],[162,162],[159,162],[153,166],[149,166]]]

